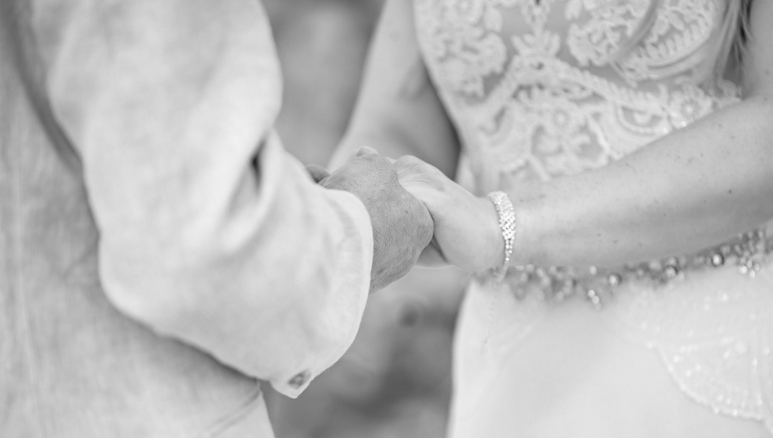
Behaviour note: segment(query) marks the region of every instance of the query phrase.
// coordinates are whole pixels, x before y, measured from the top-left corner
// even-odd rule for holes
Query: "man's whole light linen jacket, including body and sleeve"
[[[272,128],[253,0],[0,5],[0,436],[272,436],[351,344],[363,204]]]

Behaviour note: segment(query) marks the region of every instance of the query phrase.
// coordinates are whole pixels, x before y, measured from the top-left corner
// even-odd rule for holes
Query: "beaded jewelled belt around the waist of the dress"
[[[629,263],[622,267],[585,269],[535,265],[512,266],[504,282],[518,299],[536,294],[547,301],[563,301],[573,296],[587,299],[597,309],[614,296],[615,289],[625,282],[649,282],[654,287],[665,286],[683,279],[685,272],[716,269],[736,265],[738,272],[754,277],[768,254],[773,252],[773,238],[763,230],[738,234],[722,245],[707,248],[693,255],[669,257],[652,262]]]

